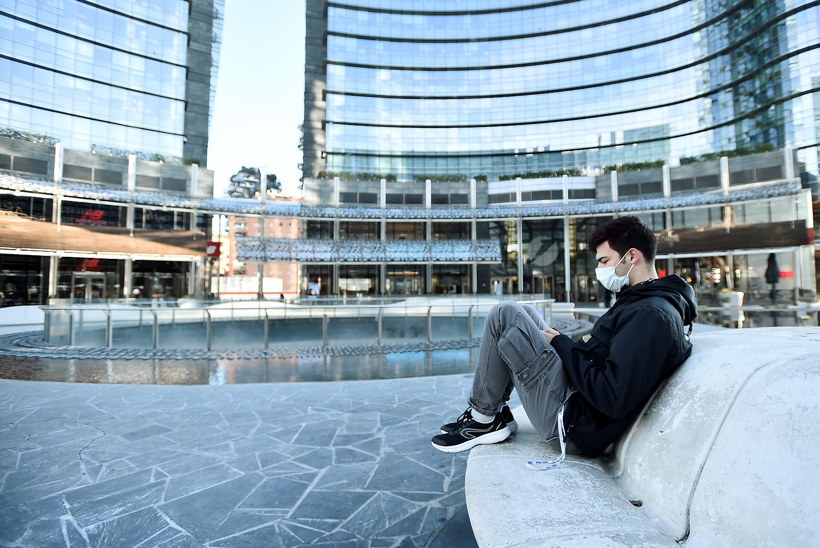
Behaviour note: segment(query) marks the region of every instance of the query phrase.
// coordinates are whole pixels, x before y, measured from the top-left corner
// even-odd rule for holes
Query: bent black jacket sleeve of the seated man
[[[556,336],[552,341],[572,387],[612,418],[626,417],[651,393],[673,343],[668,318],[651,307],[622,314],[604,363],[590,359],[567,336]]]

